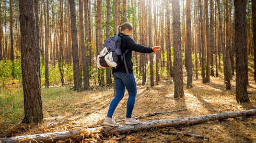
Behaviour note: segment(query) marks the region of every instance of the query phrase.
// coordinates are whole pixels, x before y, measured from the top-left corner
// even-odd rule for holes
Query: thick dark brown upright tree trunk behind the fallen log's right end
[[[247,0],[235,0],[235,53],[236,80],[235,98],[239,103],[249,102],[248,86],[248,57],[247,57]]]

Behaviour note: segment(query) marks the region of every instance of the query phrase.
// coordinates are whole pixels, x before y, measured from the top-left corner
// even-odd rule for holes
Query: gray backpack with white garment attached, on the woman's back
[[[112,37],[107,38],[104,41],[104,49],[100,52],[100,54],[97,56],[97,67],[99,69],[105,68],[105,67],[115,67],[119,64],[121,64],[123,61],[125,63],[125,68],[127,74],[128,68],[125,60],[125,54],[129,51],[128,49],[125,51],[124,54],[122,54],[121,51],[121,37],[125,35],[118,36],[115,34]]]

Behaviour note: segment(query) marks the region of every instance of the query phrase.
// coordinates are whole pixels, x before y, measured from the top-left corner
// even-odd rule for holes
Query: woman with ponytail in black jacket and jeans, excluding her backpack
[[[128,50],[128,52],[124,57],[126,59],[128,73],[127,73],[124,62],[117,65],[116,68],[113,68],[112,70],[113,72],[112,74],[113,74],[113,77],[115,80],[115,86],[116,86],[116,96],[110,102],[107,116],[103,123],[105,125],[110,125],[110,126],[119,125],[119,123],[116,123],[114,120],[112,120],[112,115],[116,110],[116,106],[124,97],[125,88],[127,89],[129,94],[128,101],[127,101],[127,112],[126,112],[125,124],[140,123],[139,120],[135,120],[131,116],[134,103],[135,103],[136,94],[137,94],[137,86],[136,86],[133,69],[132,69],[133,63],[131,61],[132,51],[137,51],[141,53],[151,53],[153,51],[160,51],[160,46],[148,48],[148,47],[141,46],[140,44],[136,44],[130,37],[132,29],[133,27],[128,22],[118,26],[117,28],[118,36],[121,37],[122,53],[125,53],[125,51]]]

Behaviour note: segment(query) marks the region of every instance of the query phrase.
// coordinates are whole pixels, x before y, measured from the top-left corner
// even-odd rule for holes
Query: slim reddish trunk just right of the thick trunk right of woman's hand
[[[187,82],[186,89],[193,88],[192,85],[192,41],[191,41],[191,14],[190,14],[190,0],[186,0],[186,72],[187,72]]]

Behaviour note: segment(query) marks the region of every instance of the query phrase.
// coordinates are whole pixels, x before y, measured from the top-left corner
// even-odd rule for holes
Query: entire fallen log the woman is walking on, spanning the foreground
[[[52,143],[57,141],[65,141],[71,137],[82,135],[84,136],[86,133],[92,135],[92,133],[102,133],[102,134],[124,134],[124,133],[133,133],[138,131],[145,131],[152,128],[163,128],[163,127],[172,127],[172,126],[180,126],[180,125],[194,125],[200,123],[206,123],[209,121],[222,120],[227,118],[235,118],[241,116],[248,115],[256,115],[256,109],[240,111],[240,112],[224,112],[224,113],[216,113],[209,114],[197,117],[186,117],[186,118],[175,118],[175,119],[163,119],[163,120],[155,120],[148,122],[141,122],[136,125],[119,125],[118,127],[100,127],[100,128],[91,128],[84,130],[73,130],[73,131],[65,131],[65,132],[56,132],[56,133],[42,133],[42,134],[33,134],[33,135],[24,135],[24,136],[16,136],[10,138],[0,139],[0,143]],[[91,133],[89,133],[91,132]],[[90,137],[90,136],[88,136]]]

